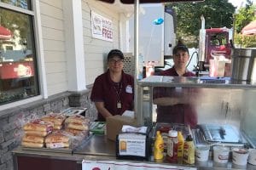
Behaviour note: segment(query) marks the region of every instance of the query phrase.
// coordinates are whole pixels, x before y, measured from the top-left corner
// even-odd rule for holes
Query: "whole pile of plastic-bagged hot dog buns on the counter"
[[[32,148],[74,149],[88,136],[90,119],[50,113],[23,126],[21,145]]]

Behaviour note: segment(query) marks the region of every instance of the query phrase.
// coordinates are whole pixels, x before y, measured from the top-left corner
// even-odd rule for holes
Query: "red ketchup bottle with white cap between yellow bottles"
[[[170,130],[167,140],[166,160],[172,163],[177,162],[177,131]]]

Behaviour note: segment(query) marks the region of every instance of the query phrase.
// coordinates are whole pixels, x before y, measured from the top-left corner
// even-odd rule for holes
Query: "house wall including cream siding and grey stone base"
[[[65,33],[65,17],[63,2],[66,0],[39,0],[42,42],[44,47],[45,77],[47,82],[47,99],[38,99],[26,105],[15,105],[0,111],[0,169],[12,170],[11,151],[20,145],[22,126],[35,118],[49,112],[63,111],[67,107],[86,107],[86,116],[94,121],[97,116],[95,105],[90,101],[90,88],[86,86],[106,71],[108,51],[119,48],[119,11],[95,0],[82,0],[84,37],[84,91],[68,92],[67,74],[67,40]],[[91,37],[90,10],[113,21],[113,42],[98,40]],[[38,44],[37,44],[38,45]],[[39,72],[42,74],[42,72]],[[42,82],[41,82],[42,84]],[[86,87],[86,88],[85,88]]]

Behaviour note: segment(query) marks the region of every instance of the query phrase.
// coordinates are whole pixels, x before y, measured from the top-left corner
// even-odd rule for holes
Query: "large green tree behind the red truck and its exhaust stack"
[[[202,3],[167,3],[177,14],[177,37],[198,37],[201,29],[201,14],[206,28],[232,27],[235,7],[228,0],[205,0]]]

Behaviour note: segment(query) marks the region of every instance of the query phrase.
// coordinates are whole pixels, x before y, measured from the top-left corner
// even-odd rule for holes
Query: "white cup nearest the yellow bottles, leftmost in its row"
[[[208,161],[210,146],[199,144],[195,148],[196,161]]]

